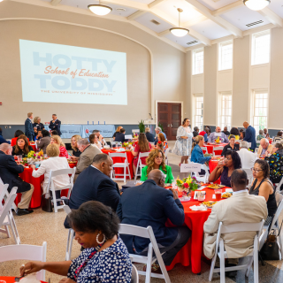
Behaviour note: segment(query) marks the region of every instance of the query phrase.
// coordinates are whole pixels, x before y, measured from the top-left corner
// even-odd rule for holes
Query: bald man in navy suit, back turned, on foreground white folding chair
[[[164,173],[158,169],[149,172],[148,180],[141,186],[128,187],[120,199],[117,215],[121,223],[134,226],[151,226],[165,265],[170,265],[179,250],[187,243],[191,231],[182,226],[184,208],[173,189],[164,188]],[[178,227],[166,227],[167,218]],[[147,255],[149,239],[121,235],[128,251]],[[134,248],[133,248],[134,246]],[[155,271],[159,266],[154,264]]]

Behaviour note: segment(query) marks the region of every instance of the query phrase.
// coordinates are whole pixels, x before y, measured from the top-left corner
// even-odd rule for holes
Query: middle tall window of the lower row
[[[232,117],[232,95],[231,92],[222,92],[219,94],[219,123],[221,129],[227,126],[231,129]]]

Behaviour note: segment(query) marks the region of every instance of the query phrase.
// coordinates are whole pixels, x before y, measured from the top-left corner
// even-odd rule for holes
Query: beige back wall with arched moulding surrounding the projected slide
[[[185,53],[137,27],[8,1],[1,5],[0,19],[3,18],[14,19],[0,21],[0,124],[22,124],[27,111],[41,116],[42,122],[49,121],[52,112],[57,112],[63,123],[105,120],[109,124],[136,124],[140,119],[148,119],[149,112],[154,116],[155,101],[184,100]],[[126,52],[128,105],[23,103],[19,39]]]

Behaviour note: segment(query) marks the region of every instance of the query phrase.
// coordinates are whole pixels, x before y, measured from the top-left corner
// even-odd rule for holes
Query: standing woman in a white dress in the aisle
[[[187,159],[191,154],[193,134],[189,126],[190,120],[184,119],[183,125],[178,128],[174,148],[172,153],[181,156],[180,164],[187,164]]]

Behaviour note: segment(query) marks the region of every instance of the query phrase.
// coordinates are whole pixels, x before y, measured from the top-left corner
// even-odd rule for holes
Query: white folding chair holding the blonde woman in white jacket
[[[49,180],[49,184],[48,184],[48,191],[51,190],[52,196],[53,196],[53,204],[54,204],[54,211],[57,212],[59,209],[63,209],[64,205],[57,205],[57,202],[59,201],[64,201],[64,198],[56,198],[56,194],[55,191],[61,191],[63,189],[69,189],[68,191],[68,198],[70,198],[72,189],[73,189],[73,178],[74,178],[74,174],[76,172],[76,167],[73,168],[69,168],[69,169],[59,169],[59,170],[55,170],[55,171],[51,171],[50,172],[50,180]],[[68,185],[66,185],[65,187],[55,187],[54,186],[54,182],[53,182],[53,178],[59,175],[71,175],[70,178],[70,183]]]

